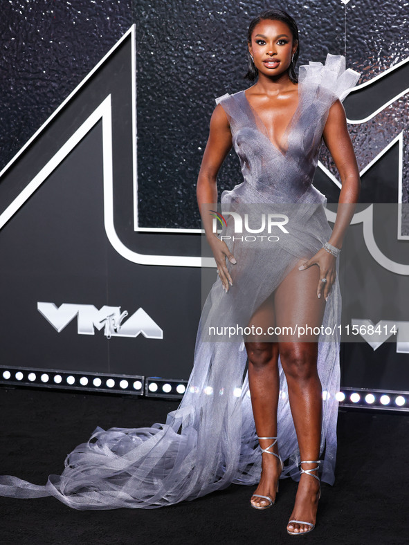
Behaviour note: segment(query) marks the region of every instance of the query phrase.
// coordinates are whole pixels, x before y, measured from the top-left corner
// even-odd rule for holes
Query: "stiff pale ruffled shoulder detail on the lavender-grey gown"
[[[325,64],[310,61],[309,64],[302,64],[298,72],[298,82],[304,88],[312,88],[332,95],[333,102],[337,98],[343,102],[360,77],[361,73],[352,68],[345,68],[343,55],[331,55],[331,53],[327,54]]]

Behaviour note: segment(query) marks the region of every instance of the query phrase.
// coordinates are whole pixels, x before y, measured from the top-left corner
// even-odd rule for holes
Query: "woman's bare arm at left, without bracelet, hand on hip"
[[[212,248],[217,263],[217,270],[219,270],[219,275],[226,291],[228,291],[228,284],[233,286],[228,268],[226,267],[226,257],[233,264],[236,261],[226,243],[213,234],[210,209],[212,209],[212,205],[217,203],[217,174],[231,147],[232,134],[228,117],[223,107],[217,104],[210,118],[209,138],[201,161],[196,193],[206,238],[208,239],[210,248]]]

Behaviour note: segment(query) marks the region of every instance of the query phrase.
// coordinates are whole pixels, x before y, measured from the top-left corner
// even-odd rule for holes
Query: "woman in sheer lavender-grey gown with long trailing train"
[[[259,80],[246,94],[217,99],[199,173],[198,201],[219,278],[203,308],[194,368],[179,408],[167,415],[165,424],[107,431],[97,427],[87,443],[67,456],[62,475],[49,476],[45,486],[3,476],[0,495],[53,495],[81,510],[158,508],[230,483],[260,481],[251,503],[265,508],[275,501],[278,478],[292,477],[300,483],[291,519],[304,522],[290,522],[288,529],[298,534],[313,528],[317,464],[324,448],[321,479],[334,481],[339,335],[296,338],[272,332],[266,337],[263,331],[275,324],[293,325],[295,319],[309,326],[339,320],[336,259],[327,249],[336,254],[334,248],[342,246],[353,207],[339,207],[331,231],[322,206],[325,196],[311,180],[323,135],[343,181],[340,203],[358,199],[358,169],[338,100],[356,84],[358,74],[344,70],[343,57],[329,55],[325,66],[303,66],[297,86],[298,31],[280,10],[252,21],[248,52],[250,75],[258,72]],[[285,238],[257,235],[251,246],[213,234],[217,213],[208,214],[208,203],[217,201],[217,172],[232,144],[244,182],[222,195],[222,211],[230,214],[222,236],[234,235],[235,221],[230,220],[244,211],[251,221],[259,212],[266,220],[269,212],[268,228],[280,232],[286,231],[282,219],[287,218]],[[254,223],[252,228],[245,225],[258,232]],[[276,239],[277,244],[264,246]],[[226,240],[233,240],[230,249]],[[328,240],[331,246],[322,249]],[[237,331],[215,340],[210,334],[209,326],[235,322],[256,326],[255,335],[243,339]],[[327,391],[323,407],[321,388]],[[281,459],[289,462],[280,474]]]

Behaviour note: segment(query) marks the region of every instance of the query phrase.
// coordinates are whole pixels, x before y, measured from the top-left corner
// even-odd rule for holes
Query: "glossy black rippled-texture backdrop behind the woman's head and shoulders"
[[[341,0],[294,0],[273,6],[298,21],[298,65],[324,62],[328,52],[343,54],[365,82],[409,55],[406,0],[356,0],[346,6]],[[246,29],[269,7],[264,1],[233,0],[3,1],[0,167],[135,23],[140,225],[199,227],[195,185],[215,98],[250,85],[242,79]],[[405,98],[392,105],[392,118],[408,114]],[[368,138],[385,143],[395,133],[393,124],[392,119],[385,128],[375,120],[365,127],[365,140],[351,127],[360,167],[373,158]],[[324,147],[322,161],[331,166]],[[240,178],[232,151],[219,190]]]

